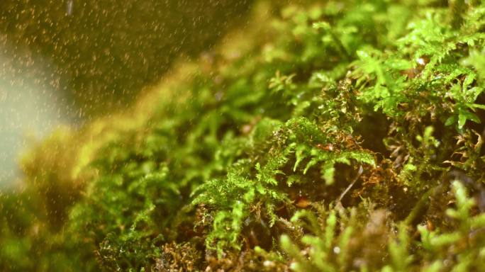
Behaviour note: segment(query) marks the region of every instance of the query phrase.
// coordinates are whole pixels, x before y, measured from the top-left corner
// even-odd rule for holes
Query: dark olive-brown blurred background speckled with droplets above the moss
[[[208,50],[241,26],[251,1],[1,0],[0,44],[21,62],[26,54],[50,60],[37,77],[86,118],[129,105],[175,57]]]

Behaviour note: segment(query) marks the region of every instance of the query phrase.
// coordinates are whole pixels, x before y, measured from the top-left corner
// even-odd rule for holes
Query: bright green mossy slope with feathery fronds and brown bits
[[[26,154],[0,269],[484,271],[484,48],[481,1],[260,1]]]

